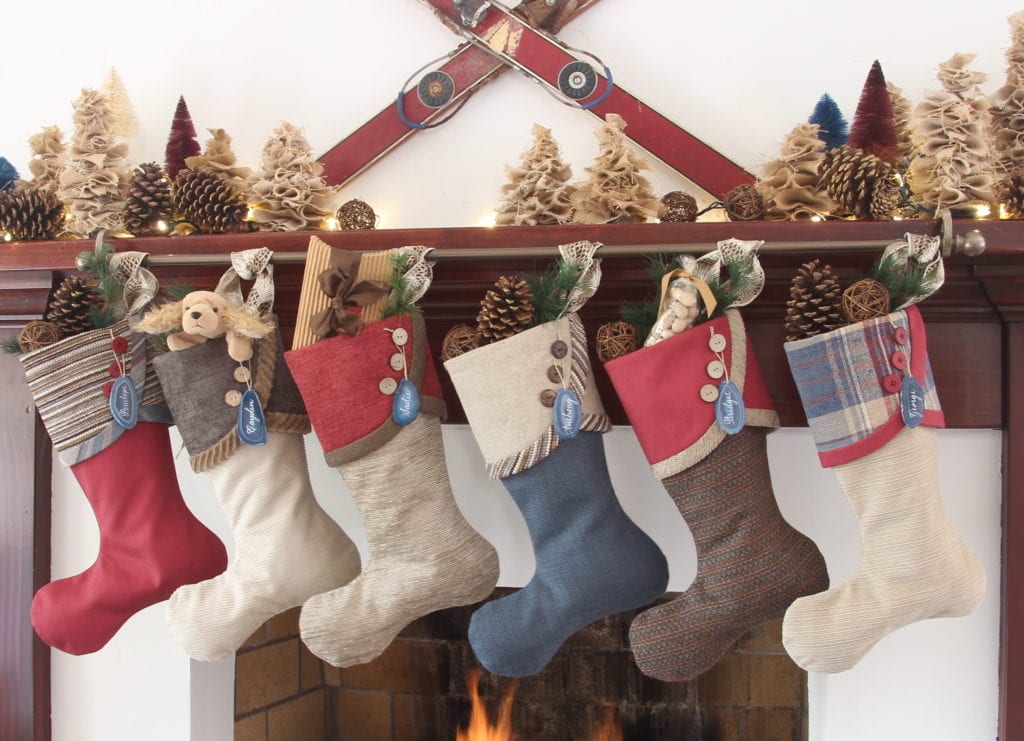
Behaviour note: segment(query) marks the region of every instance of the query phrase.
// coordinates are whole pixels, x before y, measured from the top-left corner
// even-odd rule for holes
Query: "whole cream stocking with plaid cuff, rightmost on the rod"
[[[939,496],[933,428],[943,419],[916,307],[785,349],[819,457],[857,518],[862,560],[846,583],[790,607],[782,643],[808,671],[844,671],[897,628],[970,614],[985,572]],[[920,409],[912,429],[899,394],[910,377],[921,385],[905,402]]]

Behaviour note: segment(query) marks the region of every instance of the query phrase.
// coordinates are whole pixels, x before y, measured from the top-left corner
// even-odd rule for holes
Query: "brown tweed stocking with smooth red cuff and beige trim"
[[[713,349],[716,343],[721,351]],[[824,589],[824,560],[775,502],[765,436],[778,418],[739,312],[729,310],[605,367],[697,551],[693,584],[640,613],[630,627],[630,645],[645,674],[690,680],[752,627],[781,617],[798,597]],[[734,435],[719,427],[717,393],[708,393],[725,374],[746,407],[746,426]]]

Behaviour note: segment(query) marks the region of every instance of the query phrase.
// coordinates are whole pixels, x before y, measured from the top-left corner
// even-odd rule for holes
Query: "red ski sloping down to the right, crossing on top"
[[[420,0],[430,6],[445,26],[467,38],[477,48],[525,69],[535,79],[558,90],[558,75],[567,63],[580,56],[548,34],[534,29],[515,14],[497,4],[472,29],[460,23],[459,7],[454,0]],[[597,86],[588,97],[599,98],[606,92],[608,81],[600,74]],[[587,99],[579,102],[586,104]],[[611,86],[607,97],[588,108],[600,119],[615,113],[628,124],[626,135],[652,156],[688,177],[709,192],[722,198],[742,183],[754,182],[754,176],[709,144],[667,119],[617,85]]]

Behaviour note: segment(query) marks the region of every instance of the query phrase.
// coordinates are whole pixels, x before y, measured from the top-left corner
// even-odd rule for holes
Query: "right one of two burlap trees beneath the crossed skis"
[[[650,166],[629,145],[623,133],[626,121],[608,114],[597,132],[600,152],[587,168],[590,177],[575,184],[572,221],[607,224],[612,221],[642,223],[657,217],[658,201],[641,170]]]

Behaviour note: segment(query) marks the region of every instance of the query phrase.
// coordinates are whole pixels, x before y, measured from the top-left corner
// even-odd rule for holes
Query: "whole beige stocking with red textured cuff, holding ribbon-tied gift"
[[[394,333],[404,333],[400,346]],[[391,418],[404,372],[420,411]],[[400,357],[399,353],[399,357]],[[444,402],[420,316],[399,314],[286,353],[329,465],[362,515],[367,568],[351,583],[302,607],[302,640],[336,666],[376,658],[407,624],[485,598],[498,581],[495,549],[469,525],[452,493],[440,419]],[[390,386],[388,386],[390,384]]]

